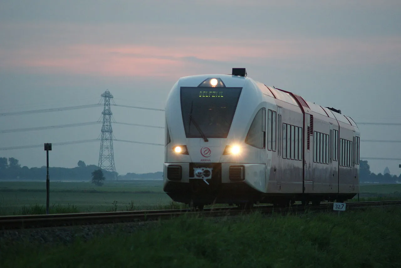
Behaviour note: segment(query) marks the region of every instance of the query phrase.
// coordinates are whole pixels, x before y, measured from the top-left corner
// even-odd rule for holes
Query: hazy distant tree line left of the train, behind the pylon
[[[74,168],[49,167],[51,180],[91,180],[92,172],[99,170],[96,165],[86,165],[84,161],[79,160]],[[125,179],[162,179],[162,172],[127,175],[118,175],[117,172],[102,170],[106,180],[125,180]],[[0,157],[0,180],[46,180],[46,166],[40,168],[28,168],[22,166],[19,160],[13,157]]]

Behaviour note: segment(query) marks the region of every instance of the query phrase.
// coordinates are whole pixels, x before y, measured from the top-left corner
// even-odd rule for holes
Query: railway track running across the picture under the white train
[[[348,202],[347,210],[354,208],[373,207],[373,206],[396,206],[401,205],[401,200],[397,201],[370,201],[370,202]],[[235,207],[225,208],[205,208],[202,212],[193,212],[190,209],[182,210],[142,210],[142,211],[122,211],[122,212],[91,212],[73,214],[49,214],[49,215],[21,215],[21,216],[0,216],[0,230],[42,228],[55,226],[71,226],[83,224],[106,224],[119,222],[139,222],[146,220],[170,219],[184,214],[203,214],[204,216],[235,216],[251,211],[262,213],[272,212],[302,212],[306,209],[316,211],[330,211],[333,203],[322,203],[319,206],[293,205],[289,208],[275,208],[272,205],[254,206],[253,209],[240,210]]]

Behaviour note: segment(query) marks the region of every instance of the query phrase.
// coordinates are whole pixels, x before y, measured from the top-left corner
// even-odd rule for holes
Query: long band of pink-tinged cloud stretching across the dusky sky
[[[399,62],[401,38],[230,40],[174,38],[176,45],[41,44],[0,50],[0,67],[31,72],[103,76],[189,75],[213,62],[255,64],[285,61],[294,64],[356,65]],[[213,69],[213,68],[212,68]]]

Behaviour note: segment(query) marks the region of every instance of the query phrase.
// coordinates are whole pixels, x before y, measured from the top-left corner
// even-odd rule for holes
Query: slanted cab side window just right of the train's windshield
[[[252,124],[249,127],[248,134],[245,138],[245,143],[250,146],[264,149],[266,140],[266,109],[261,108],[253,118]]]

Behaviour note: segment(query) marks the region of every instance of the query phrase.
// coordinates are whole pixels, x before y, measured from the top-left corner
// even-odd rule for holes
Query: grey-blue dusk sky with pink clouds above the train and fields
[[[163,109],[182,76],[229,74],[340,109],[356,122],[401,123],[399,0],[2,0],[0,113],[96,104]],[[0,116],[1,130],[94,122],[102,106]],[[117,122],[164,126],[164,112],[112,106]],[[164,130],[113,124],[116,139],[164,143]],[[0,133],[0,148],[96,139],[101,124]],[[362,140],[401,126],[360,125]],[[114,142],[119,174],[162,171],[164,147]],[[100,142],[53,146],[50,166],[98,164]],[[361,157],[401,158],[401,143],[361,142]],[[46,165],[43,147],[0,150]],[[400,174],[400,161],[369,160]]]

